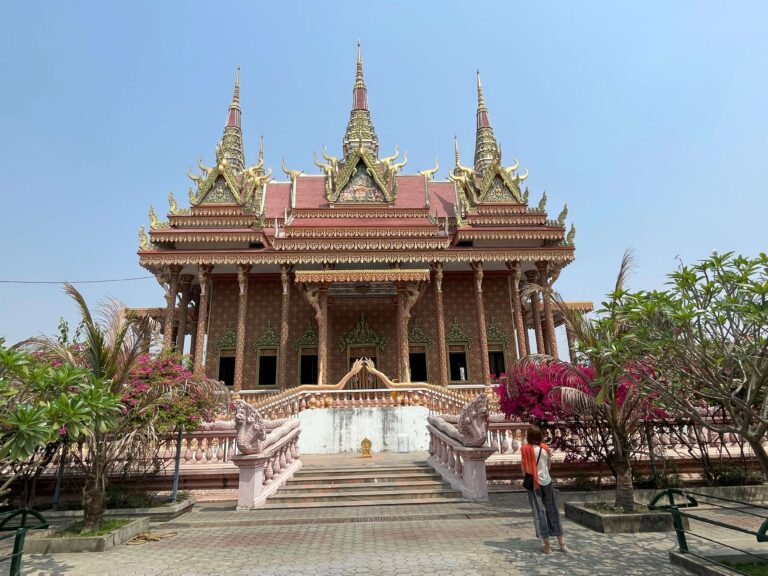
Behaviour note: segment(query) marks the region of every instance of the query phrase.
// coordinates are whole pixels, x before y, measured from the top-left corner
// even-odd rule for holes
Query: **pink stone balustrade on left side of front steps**
[[[238,510],[258,508],[301,469],[300,433],[298,420],[286,420],[266,435],[258,453],[232,457],[240,470]]]

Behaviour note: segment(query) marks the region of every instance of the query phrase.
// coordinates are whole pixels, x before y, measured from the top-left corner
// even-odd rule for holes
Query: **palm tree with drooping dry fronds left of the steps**
[[[158,447],[165,439],[157,424],[165,406],[172,406],[177,394],[195,389],[206,395],[213,406],[220,391],[218,382],[203,379],[186,382],[182,388],[159,382],[132,405],[121,405],[129,396],[129,377],[142,355],[142,341],[147,333],[157,333],[157,326],[147,317],[125,314],[125,308],[116,300],[108,300],[101,307],[101,318],[94,319],[82,294],[71,284],[65,292],[76,302],[83,323],[83,342],[75,346],[56,339],[40,336],[25,345],[59,358],[90,372],[92,382],[103,384],[101,413],[93,426],[73,439],[70,457],[85,477],[83,485],[83,530],[95,529],[106,508],[106,487],[110,475],[116,471],[129,472],[152,463]],[[118,410],[110,405],[115,399]],[[97,404],[99,403],[97,398]]]

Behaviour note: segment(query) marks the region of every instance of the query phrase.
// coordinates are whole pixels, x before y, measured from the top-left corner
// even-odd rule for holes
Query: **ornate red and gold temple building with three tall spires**
[[[135,311],[161,322],[164,348],[235,390],[333,384],[358,358],[394,382],[483,384],[526,354],[567,354],[541,296],[573,261],[575,228],[504,165],[479,74],[474,160],[456,143],[446,180],[381,154],[359,47],[340,151],[316,174],[283,163],[274,177],[263,141],[246,162],[239,91],[238,73],[215,164],[188,172],[189,207],[171,194],[167,219],[150,209],[140,231],[166,305]]]

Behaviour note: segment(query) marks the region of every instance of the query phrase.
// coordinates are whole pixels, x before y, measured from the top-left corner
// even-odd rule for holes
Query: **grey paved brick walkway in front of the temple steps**
[[[23,574],[68,576],[682,576],[672,534],[605,536],[564,519],[568,554],[545,556],[524,494],[475,503],[234,512],[205,504],[101,554],[25,557]]]

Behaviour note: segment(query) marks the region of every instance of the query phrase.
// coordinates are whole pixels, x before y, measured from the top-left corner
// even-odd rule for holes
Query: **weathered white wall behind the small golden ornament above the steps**
[[[372,452],[397,452],[398,436],[408,439],[408,451],[429,449],[424,406],[394,408],[315,408],[299,413],[302,454],[359,452],[363,438],[371,441]]]

